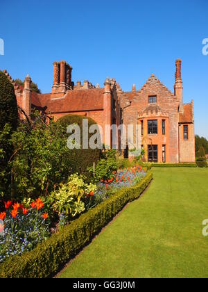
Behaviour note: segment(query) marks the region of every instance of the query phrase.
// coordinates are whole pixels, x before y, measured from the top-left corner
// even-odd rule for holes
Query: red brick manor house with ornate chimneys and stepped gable
[[[4,70],[15,87],[17,104],[26,115],[36,108],[55,120],[78,114],[92,117],[102,127],[140,124],[146,161],[195,162],[193,101],[183,104],[181,60],[176,61],[174,93],[154,74],[140,90],[133,85],[131,92],[123,92],[115,79],[107,78],[103,88],[89,81],[73,83],[72,67],[65,61],[55,62],[53,67],[52,91],[46,94],[31,90],[30,76],[26,76],[21,88]],[[112,131],[103,134],[103,141],[112,146]]]

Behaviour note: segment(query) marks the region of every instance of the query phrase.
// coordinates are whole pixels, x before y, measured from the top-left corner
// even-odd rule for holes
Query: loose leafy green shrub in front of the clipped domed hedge
[[[11,139],[15,151],[10,167],[18,200],[46,195],[72,173],[64,127],[44,122],[39,113],[33,118],[30,126],[21,121]]]

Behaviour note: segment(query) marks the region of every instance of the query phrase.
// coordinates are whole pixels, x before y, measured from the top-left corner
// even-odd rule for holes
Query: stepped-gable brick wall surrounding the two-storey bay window
[[[144,145],[158,145],[158,159],[162,162],[162,145],[166,145],[166,162],[177,163],[179,161],[178,145],[178,106],[179,102],[175,96],[154,76],[148,79],[147,83],[137,92],[123,92],[121,94],[121,106],[125,107],[131,101],[132,104],[123,110],[124,124],[137,124],[139,112],[148,107],[148,97],[157,95],[157,105],[166,117],[166,135],[161,135],[162,117],[150,115],[149,120],[158,120],[158,135],[148,135],[147,120],[144,120]],[[145,143],[145,141],[148,141]],[[146,146],[147,159],[147,146]]]

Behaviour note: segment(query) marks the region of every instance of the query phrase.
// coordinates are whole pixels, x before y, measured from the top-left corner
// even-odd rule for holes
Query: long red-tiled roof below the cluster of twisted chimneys
[[[104,88],[69,90],[63,97],[33,94],[33,107],[45,108],[46,113],[72,113],[103,110]]]

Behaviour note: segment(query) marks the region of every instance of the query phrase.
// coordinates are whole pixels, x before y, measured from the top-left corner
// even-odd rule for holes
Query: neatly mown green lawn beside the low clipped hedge
[[[208,169],[155,168],[137,201],[60,277],[208,277]]]

